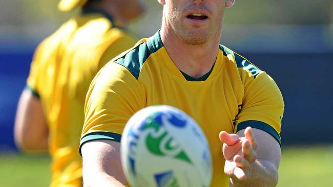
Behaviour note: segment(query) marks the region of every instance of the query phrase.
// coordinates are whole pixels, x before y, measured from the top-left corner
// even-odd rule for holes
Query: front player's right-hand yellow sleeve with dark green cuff
[[[253,73],[253,72],[252,72]],[[253,76],[242,71],[244,98],[236,118],[235,132],[250,126],[272,135],[281,146],[281,120],[284,102],[281,91],[265,72]]]

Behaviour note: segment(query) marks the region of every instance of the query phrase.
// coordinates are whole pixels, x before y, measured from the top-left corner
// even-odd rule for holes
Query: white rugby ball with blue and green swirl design
[[[141,109],[128,121],[121,163],[133,187],[204,187],[212,179],[204,133],[188,114],[166,105]]]

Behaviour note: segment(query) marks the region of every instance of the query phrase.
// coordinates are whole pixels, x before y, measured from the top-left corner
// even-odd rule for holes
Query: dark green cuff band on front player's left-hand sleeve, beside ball
[[[86,142],[94,141],[96,139],[109,139],[111,141],[120,142],[121,135],[112,133],[112,132],[92,132],[92,133],[85,135],[84,137],[82,137],[82,139],[80,141],[80,146],[78,148],[81,156],[82,156],[82,154],[81,154],[82,145],[84,145]]]

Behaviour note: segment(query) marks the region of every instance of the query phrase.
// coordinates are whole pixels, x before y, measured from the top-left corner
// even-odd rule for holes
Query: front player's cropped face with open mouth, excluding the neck
[[[224,7],[225,0],[165,0],[165,24],[181,41],[204,44],[220,35]]]

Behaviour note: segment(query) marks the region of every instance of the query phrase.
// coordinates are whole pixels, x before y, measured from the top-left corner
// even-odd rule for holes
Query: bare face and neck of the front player
[[[234,1],[158,1],[164,7],[161,39],[175,65],[194,78],[209,72],[218,53],[224,10]]]

